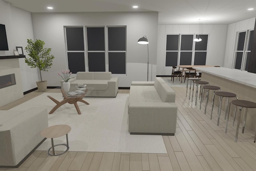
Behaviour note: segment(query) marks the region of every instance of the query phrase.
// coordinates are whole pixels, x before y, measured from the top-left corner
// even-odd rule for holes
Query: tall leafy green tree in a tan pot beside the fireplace
[[[42,80],[41,71],[48,71],[52,67],[53,55],[50,55],[51,48],[44,48],[44,41],[27,39],[28,45],[25,50],[30,58],[25,58],[26,64],[31,68],[38,68],[40,72],[40,81],[36,82],[38,91],[46,91],[47,81]]]

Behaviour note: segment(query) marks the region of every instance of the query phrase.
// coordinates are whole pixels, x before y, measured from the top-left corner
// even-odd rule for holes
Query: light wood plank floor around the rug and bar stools
[[[234,127],[229,123],[226,134],[223,111],[217,126],[217,107],[210,120],[211,103],[204,115],[204,105],[199,110],[199,104],[196,107],[191,103],[186,97],[186,87],[172,88],[176,91],[178,120],[175,136],[163,136],[167,154],[68,151],[51,157],[46,151],[35,151],[19,168],[0,168],[0,171],[256,171],[253,132],[246,129],[242,134],[240,129],[236,143],[236,123]],[[119,93],[129,93],[129,90],[119,90]],[[24,101],[38,94],[29,93]],[[3,109],[15,105],[18,102]]]

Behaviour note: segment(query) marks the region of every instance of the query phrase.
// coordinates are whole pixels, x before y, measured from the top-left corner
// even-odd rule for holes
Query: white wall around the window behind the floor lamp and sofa
[[[32,13],[34,38],[52,48],[53,66],[42,72],[48,86],[60,86],[58,72],[67,69],[64,26],[127,26],[127,76],[119,76],[119,87],[130,87],[134,80],[147,80],[147,46],[137,43],[146,35],[152,78],[156,76],[158,12]],[[151,76],[149,76],[151,78]],[[149,79],[150,80],[150,79]]]

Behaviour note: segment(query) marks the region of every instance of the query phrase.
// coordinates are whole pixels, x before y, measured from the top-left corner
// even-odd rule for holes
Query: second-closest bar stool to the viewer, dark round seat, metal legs
[[[220,96],[220,104],[219,104],[219,108],[218,108],[218,122],[217,122],[217,125],[219,126],[219,123],[220,123],[220,111],[221,111],[221,104],[222,104],[223,97],[227,97],[226,111],[225,111],[225,120],[226,120],[227,113],[228,113],[229,98],[230,97],[236,97],[236,94],[230,93],[230,92],[226,92],[226,91],[217,91],[217,92],[215,92],[214,95],[213,95],[213,101],[212,101],[212,111],[213,111],[214,96],[215,95]],[[238,99],[238,98],[236,97],[236,99]],[[211,119],[212,119],[212,112],[211,112]]]

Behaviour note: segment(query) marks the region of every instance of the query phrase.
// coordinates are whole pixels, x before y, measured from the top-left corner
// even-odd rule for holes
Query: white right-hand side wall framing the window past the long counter
[[[224,58],[224,67],[233,68],[234,66],[234,51],[236,46],[236,33],[254,29],[255,17],[240,22],[228,24],[228,35],[226,40],[226,52]]]

